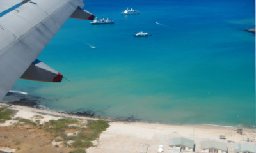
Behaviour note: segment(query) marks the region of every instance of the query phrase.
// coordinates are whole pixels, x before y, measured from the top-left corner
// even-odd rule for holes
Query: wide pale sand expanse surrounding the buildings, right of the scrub
[[[100,152],[157,152],[159,145],[164,146],[164,152],[168,149],[169,138],[185,137],[195,140],[196,152],[200,152],[202,140],[217,140],[227,143],[228,152],[234,152],[228,140],[236,143],[244,143],[249,138],[256,145],[256,130],[244,129],[244,135],[236,132],[236,127],[187,125],[175,126],[164,124],[150,124],[140,122],[112,122],[104,131],[95,147],[86,149],[88,153]],[[219,135],[225,135],[227,140],[220,140]]]

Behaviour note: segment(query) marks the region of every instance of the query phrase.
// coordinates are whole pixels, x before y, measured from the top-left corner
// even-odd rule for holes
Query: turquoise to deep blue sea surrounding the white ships
[[[85,3],[115,24],[70,18],[38,57],[71,82],[19,80],[13,91],[100,117],[255,125],[255,34],[244,31],[255,27],[254,0]],[[120,15],[127,7],[140,15]]]

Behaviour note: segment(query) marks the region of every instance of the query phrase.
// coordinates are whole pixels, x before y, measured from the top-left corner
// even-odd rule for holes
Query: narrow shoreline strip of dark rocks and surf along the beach
[[[10,105],[15,105],[15,106],[27,106],[30,108],[38,108],[40,110],[49,110],[52,112],[59,112],[59,113],[64,113],[68,115],[76,115],[76,116],[81,116],[81,117],[92,117],[96,119],[104,119],[104,120],[112,120],[112,121],[120,121],[120,122],[145,122],[145,123],[158,123],[158,124],[168,124],[168,125],[211,125],[211,126],[223,126],[223,127],[243,127],[243,128],[249,128],[249,129],[255,129],[256,124],[255,123],[248,123],[244,122],[244,124],[241,124],[241,122],[232,122],[232,120],[225,120],[222,122],[218,122],[218,120],[212,120],[212,122],[202,122],[202,120],[193,120],[193,122],[184,122],[182,119],[180,121],[172,122],[170,120],[161,120],[161,119],[155,119],[155,120],[150,120],[148,119],[143,119],[140,116],[134,116],[133,114],[130,115],[125,115],[120,117],[109,117],[106,115],[102,115],[101,112],[98,112],[99,110],[92,110],[90,108],[78,108],[76,110],[59,110],[58,108],[50,108],[47,105],[42,105],[42,102],[45,101],[45,98],[40,97],[40,96],[35,96],[32,94],[28,94],[27,92],[22,92],[22,91],[10,91],[6,95],[6,99],[0,103],[5,103],[5,104],[10,104]],[[175,117],[174,117],[175,118]]]

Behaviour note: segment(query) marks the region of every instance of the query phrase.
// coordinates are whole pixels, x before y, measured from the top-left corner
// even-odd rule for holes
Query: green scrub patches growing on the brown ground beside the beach
[[[13,115],[17,111],[10,110],[8,108],[0,108],[0,122],[5,122],[6,120],[12,119]],[[20,117],[15,118],[15,120],[19,120],[19,122],[24,122],[24,124],[30,124],[33,126],[38,126],[38,128],[44,128],[45,131],[51,133],[52,136],[56,137],[56,142],[63,141],[64,144],[67,145],[68,140],[73,140],[74,142],[68,143],[69,147],[78,148],[70,153],[84,153],[86,152],[84,148],[91,147],[93,145],[92,141],[96,140],[102,131],[105,131],[109,124],[104,120],[88,120],[86,126],[78,126],[78,120],[75,119],[58,119],[58,120],[49,120],[49,122],[45,122],[44,125],[40,125],[40,120],[44,117],[40,115],[33,116],[38,119],[36,122],[33,122],[29,119],[23,119]],[[74,126],[72,125],[74,124]],[[68,136],[67,132],[75,132],[77,134]],[[57,137],[58,136],[58,137]],[[8,138],[4,136],[4,138]],[[53,140],[53,139],[52,139]],[[13,140],[15,145],[20,145],[20,141]],[[55,145],[55,147],[59,147]],[[83,148],[83,149],[81,149]]]

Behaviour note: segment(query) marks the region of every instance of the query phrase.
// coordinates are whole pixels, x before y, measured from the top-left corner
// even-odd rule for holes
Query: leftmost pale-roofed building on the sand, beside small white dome
[[[169,140],[169,149],[173,152],[193,152],[194,148],[194,140],[188,138],[170,138]]]

